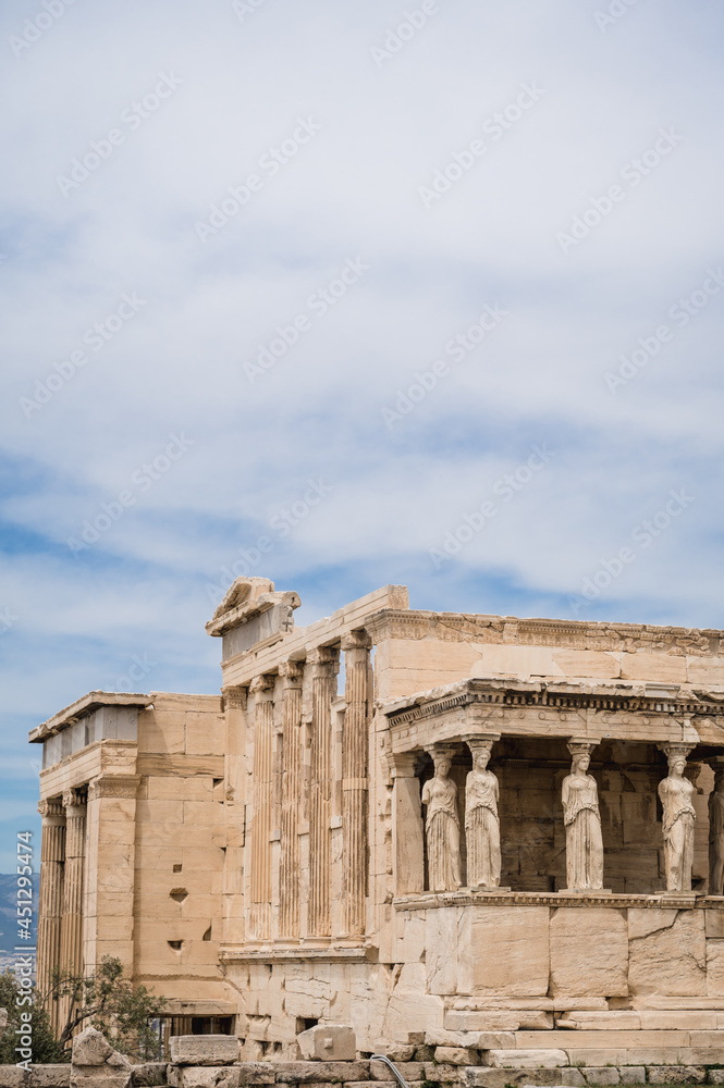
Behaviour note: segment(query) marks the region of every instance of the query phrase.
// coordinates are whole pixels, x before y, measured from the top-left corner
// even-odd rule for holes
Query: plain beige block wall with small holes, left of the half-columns
[[[138,715],[134,973],[169,998],[223,996],[224,722],[217,696],[154,694]]]

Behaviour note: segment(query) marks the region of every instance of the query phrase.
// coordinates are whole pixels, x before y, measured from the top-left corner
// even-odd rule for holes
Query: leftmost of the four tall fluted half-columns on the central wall
[[[251,825],[251,937],[271,936],[271,818],[273,804],[273,680],[256,677],[254,695],[254,817]]]

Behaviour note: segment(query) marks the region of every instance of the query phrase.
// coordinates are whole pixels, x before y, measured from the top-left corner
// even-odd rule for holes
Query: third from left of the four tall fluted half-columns
[[[332,698],[335,694],[338,651],[312,651],[311,768],[309,789],[309,912],[308,935],[331,935],[330,871],[332,867]]]

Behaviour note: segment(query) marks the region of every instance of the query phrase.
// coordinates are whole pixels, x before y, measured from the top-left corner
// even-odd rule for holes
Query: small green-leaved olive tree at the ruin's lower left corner
[[[63,999],[69,1000],[61,1047],[70,1049],[76,1028],[91,1025],[128,1058],[154,1061],[162,1056],[162,1043],[150,1021],[161,1014],[165,998],[124,978],[123,964],[115,956],[105,955],[90,975],[57,970],[45,1005],[61,1003],[62,1007]]]

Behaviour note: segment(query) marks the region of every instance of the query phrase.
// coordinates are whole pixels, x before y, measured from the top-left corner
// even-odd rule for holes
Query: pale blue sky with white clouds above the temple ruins
[[[0,22],[0,869],[27,730],[217,691],[235,573],[722,626],[719,3]]]

